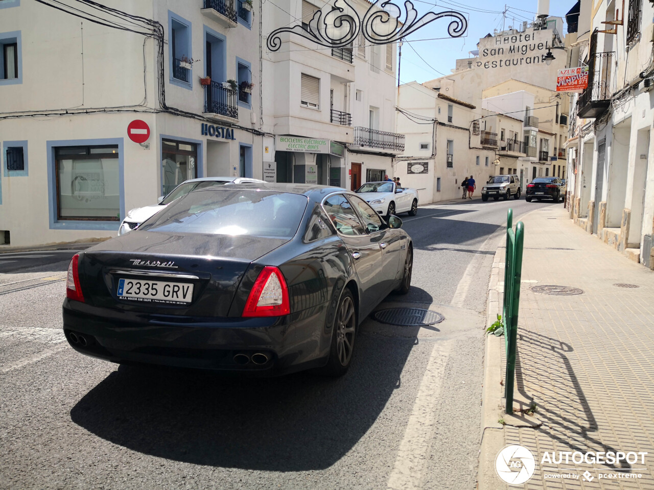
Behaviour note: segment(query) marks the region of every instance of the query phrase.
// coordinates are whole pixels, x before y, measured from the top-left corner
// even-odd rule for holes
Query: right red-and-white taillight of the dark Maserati
[[[267,265],[252,286],[243,316],[283,316],[289,313],[286,280],[281,270]]]

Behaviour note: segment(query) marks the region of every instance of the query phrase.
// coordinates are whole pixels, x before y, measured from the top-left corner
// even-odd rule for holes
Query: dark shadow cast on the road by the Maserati
[[[364,322],[353,365],[338,379],[120,366],[75,404],[71,419],[114,444],[175,461],[269,471],[328,468],[364,437],[401,386],[419,331],[375,335]],[[395,429],[398,434],[387,435],[402,440],[404,427]]]

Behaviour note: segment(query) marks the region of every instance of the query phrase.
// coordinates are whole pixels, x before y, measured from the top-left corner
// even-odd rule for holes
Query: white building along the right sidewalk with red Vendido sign
[[[627,0],[624,11],[616,7],[582,0],[574,9],[570,65],[589,67],[589,85],[573,99],[570,217],[654,269],[654,6]]]

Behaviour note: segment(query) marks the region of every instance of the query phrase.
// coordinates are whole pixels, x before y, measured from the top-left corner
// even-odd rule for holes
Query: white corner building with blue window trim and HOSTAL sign
[[[111,237],[183,180],[262,176],[260,4],[107,3],[0,4],[0,243]]]

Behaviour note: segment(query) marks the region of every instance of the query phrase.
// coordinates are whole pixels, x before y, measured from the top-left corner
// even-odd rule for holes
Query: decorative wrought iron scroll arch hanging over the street
[[[390,44],[445,17],[453,18],[447,26],[450,37],[460,37],[468,29],[468,20],[454,10],[427,12],[419,18],[411,0],[405,0],[404,8],[404,20],[400,20],[402,9],[398,5],[391,0],[375,0],[362,20],[347,0],[334,0],[313,14],[308,29],[302,25],[275,29],[268,35],[266,46],[271,51],[279,50],[282,44],[280,34],[285,32],[300,35],[326,48],[349,46],[359,33],[371,44]]]

